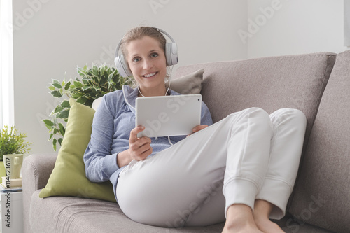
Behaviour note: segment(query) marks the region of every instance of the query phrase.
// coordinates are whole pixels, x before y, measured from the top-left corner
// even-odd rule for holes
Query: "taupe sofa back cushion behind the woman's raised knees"
[[[204,68],[201,94],[214,122],[250,107],[268,113],[300,109],[307,116],[306,143],[335,56],[321,52],[195,64],[179,67],[176,77]]]

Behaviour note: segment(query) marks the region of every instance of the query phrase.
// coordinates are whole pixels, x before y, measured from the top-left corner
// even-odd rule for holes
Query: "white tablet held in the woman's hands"
[[[181,94],[136,99],[136,126],[143,125],[138,137],[179,136],[193,133],[200,125],[201,94]]]

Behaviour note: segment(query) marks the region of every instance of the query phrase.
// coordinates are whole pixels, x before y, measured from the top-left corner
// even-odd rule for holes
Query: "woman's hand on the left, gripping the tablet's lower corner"
[[[118,153],[117,164],[118,167],[126,166],[130,164],[132,160],[144,160],[148,155],[151,155],[153,148],[151,147],[151,139],[143,136],[137,137],[139,132],[144,131],[145,127],[138,126],[132,129],[129,138],[129,149]]]

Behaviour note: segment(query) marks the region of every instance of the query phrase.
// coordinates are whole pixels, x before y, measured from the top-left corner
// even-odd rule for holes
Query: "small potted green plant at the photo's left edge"
[[[5,125],[0,134],[0,177],[6,176],[3,155],[28,153],[31,143],[27,142],[26,134],[19,133],[14,126]]]

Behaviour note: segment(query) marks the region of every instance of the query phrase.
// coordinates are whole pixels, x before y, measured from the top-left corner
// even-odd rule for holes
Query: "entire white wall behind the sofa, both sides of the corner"
[[[167,31],[184,66],[342,52],[343,10],[342,0],[13,0],[15,125],[34,143],[32,153],[52,152],[41,122],[57,104],[48,83],[74,78],[76,66],[113,64],[131,27]]]

